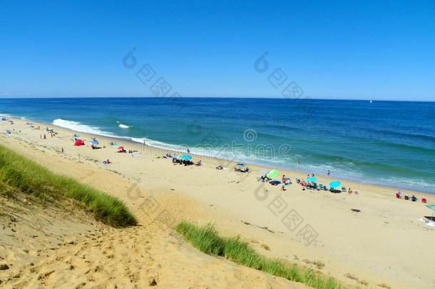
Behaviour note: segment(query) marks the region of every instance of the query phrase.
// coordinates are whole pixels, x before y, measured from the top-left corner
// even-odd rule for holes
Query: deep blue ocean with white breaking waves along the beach
[[[0,98],[0,115],[150,146],[435,193],[435,103]],[[298,164],[299,161],[299,164]]]

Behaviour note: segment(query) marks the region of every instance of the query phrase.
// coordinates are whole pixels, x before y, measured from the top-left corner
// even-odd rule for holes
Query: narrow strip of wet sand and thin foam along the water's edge
[[[76,131],[76,130],[74,130],[72,128],[66,128],[66,127],[63,127],[63,126],[57,126],[57,125],[55,125],[53,123],[45,123],[45,122],[42,122],[42,121],[34,121],[34,120],[31,120],[31,119],[27,119],[27,118],[19,118],[19,117],[16,117],[16,116],[10,116],[8,114],[4,114],[3,116],[6,116],[6,117],[11,118],[11,119],[14,119],[15,121],[29,121],[29,122],[37,123],[39,125],[52,126],[53,128],[59,128],[59,129],[67,130],[67,131],[70,131],[71,133],[83,133],[84,135],[88,135],[88,136],[91,136],[91,137],[94,137],[94,138],[105,139],[108,142],[111,141],[112,138],[114,138],[114,139],[116,139],[116,140],[118,140],[120,142],[129,143],[134,148],[138,148],[139,147],[141,149],[144,146],[143,143],[140,143],[138,141],[133,141],[133,139],[131,139],[133,137],[129,137],[129,136],[108,136],[108,135],[98,134],[98,133],[88,133],[86,131]],[[41,128],[42,128],[42,126],[41,126]],[[143,139],[148,140],[148,138],[143,138]],[[151,140],[151,141],[155,141],[155,140]],[[156,141],[156,142],[160,143],[160,141]],[[178,146],[178,145],[173,145],[173,146]],[[170,148],[159,148],[157,146],[150,146],[150,145],[146,144],[146,141],[145,141],[145,147],[148,148],[150,153],[153,153],[154,155],[156,153],[160,153],[160,156],[163,156],[165,153],[185,153],[185,151],[181,151],[181,150],[174,150],[174,149],[170,149]],[[270,171],[270,170],[276,168],[280,172],[285,172],[286,176],[288,174],[292,174],[293,176],[297,175],[297,176],[302,176],[300,178],[305,178],[308,173],[311,174],[311,172],[297,171],[297,170],[290,169],[290,168],[285,168],[285,167],[282,167],[282,166],[275,166],[274,167],[274,166],[270,166],[268,164],[255,163],[255,162],[250,162],[250,161],[229,160],[229,159],[226,159],[226,158],[218,158],[218,157],[215,157],[215,156],[205,156],[205,155],[200,155],[200,154],[196,154],[196,153],[189,153],[189,154],[192,155],[192,156],[195,156],[195,158],[198,158],[198,159],[203,158],[203,159],[213,160],[213,161],[218,162],[218,163],[228,163],[228,166],[231,166],[231,167],[234,167],[235,164],[237,164],[237,162],[243,162],[243,163],[246,163],[247,165],[249,165],[250,168],[257,168],[257,172],[260,172],[260,171]],[[412,195],[412,194],[416,195],[417,194],[417,195],[420,195],[420,196],[424,196],[426,198],[427,197],[435,197],[435,192],[432,193],[432,192],[424,191],[424,190],[419,191],[418,189],[414,189],[414,188],[413,189],[409,189],[409,188],[393,187],[393,186],[389,186],[389,185],[382,185],[382,184],[379,184],[379,183],[369,183],[369,182],[365,182],[365,181],[352,180],[352,179],[340,178],[340,177],[334,178],[334,177],[331,177],[331,176],[325,176],[323,174],[320,174],[320,175],[316,174],[316,177],[319,178],[319,179],[322,178],[322,179],[327,180],[327,181],[323,181],[324,185],[326,185],[326,184],[328,185],[327,187],[329,187],[329,182],[331,182],[331,181],[340,181],[342,183],[342,186],[344,186],[346,188],[349,188],[349,186],[346,186],[345,184],[346,183],[350,183],[353,187],[355,187],[355,186],[377,186],[379,188],[384,188],[384,189],[386,189],[388,191],[392,190],[392,191],[396,191],[397,192],[400,189],[401,192],[402,192],[402,195],[405,194],[404,192],[409,192],[409,195]],[[292,178],[292,182],[294,182],[295,178],[294,177],[291,177],[291,178]],[[352,187],[350,187],[350,188],[352,188]]]

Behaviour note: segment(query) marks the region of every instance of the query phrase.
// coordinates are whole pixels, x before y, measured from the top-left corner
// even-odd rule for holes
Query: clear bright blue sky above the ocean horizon
[[[282,69],[312,98],[435,101],[435,1],[0,1],[0,31],[3,97],[153,96],[149,64],[182,96],[279,97]]]

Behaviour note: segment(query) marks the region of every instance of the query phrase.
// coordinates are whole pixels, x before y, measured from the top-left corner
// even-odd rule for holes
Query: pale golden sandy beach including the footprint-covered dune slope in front
[[[321,263],[318,270],[349,285],[435,287],[435,230],[420,220],[432,213],[421,198],[435,203],[434,195],[402,191],[418,198],[416,202],[405,201],[395,198],[397,188],[345,180],[338,181],[358,195],[302,191],[295,178],[306,178],[310,172],[297,171],[280,171],[280,176],[292,179],[286,191],[281,191],[280,186],[257,181],[270,168],[250,165],[250,173],[237,173],[235,162],[203,156],[193,158],[202,160],[203,166],[173,165],[170,158],[162,158],[169,151],[13,120],[14,124],[0,122],[4,146],[51,171],[120,198],[138,216],[140,225],[123,230],[99,228],[95,240],[79,238],[72,245],[60,245],[53,250],[55,254],[38,256],[34,262],[41,273],[55,270],[42,279],[29,271],[29,258],[9,257],[15,267],[11,271],[15,275],[19,272],[19,278],[0,272],[3,280],[11,278],[5,283],[7,288],[72,288],[81,283],[87,287],[118,283],[121,288],[134,288],[133,284],[142,288],[153,279],[162,288],[305,288],[200,253],[172,230],[180,220],[215,223],[223,235],[238,234],[270,257],[304,265]],[[56,135],[51,137],[46,127],[53,128]],[[11,134],[6,135],[6,129]],[[44,133],[46,139],[41,138]],[[85,146],[73,146],[74,133]],[[91,149],[92,137],[102,148]],[[111,141],[117,146],[111,146]],[[117,153],[118,146],[138,153]],[[107,159],[111,163],[103,164]],[[216,170],[219,165],[226,169]],[[317,178],[323,184],[337,181]],[[106,257],[111,254],[113,257]],[[76,270],[68,269],[71,263],[76,264]],[[86,275],[88,270],[92,270],[92,277]],[[108,276],[115,280],[109,282]]]

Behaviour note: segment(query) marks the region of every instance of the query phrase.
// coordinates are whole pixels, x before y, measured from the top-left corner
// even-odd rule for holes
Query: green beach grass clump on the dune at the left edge
[[[70,198],[84,210],[93,213],[97,220],[113,227],[137,223],[126,205],[117,198],[72,178],[52,173],[4,146],[0,146],[0,184],[1,187],[8,188],[4,190],[6,197],[13,191],[20,191],[43,203],[46,200],[61,201],[61,198]]]

